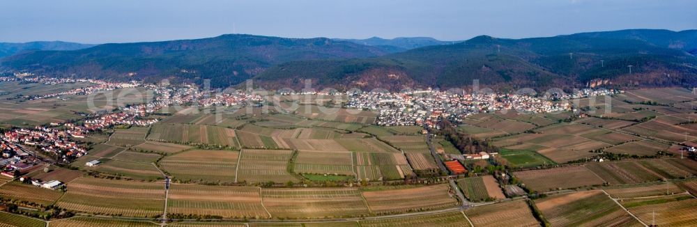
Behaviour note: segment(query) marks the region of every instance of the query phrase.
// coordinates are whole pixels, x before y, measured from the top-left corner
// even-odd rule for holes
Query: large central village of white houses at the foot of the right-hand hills
[[[567,111],[571,105],[530,95],[481,93],[462,94],[435,90],[409,93],[353,93],[348,108],[379,111],[378,125],[429,125],[438,120],[460,121],[466,116],[494,111],[546,113]]]

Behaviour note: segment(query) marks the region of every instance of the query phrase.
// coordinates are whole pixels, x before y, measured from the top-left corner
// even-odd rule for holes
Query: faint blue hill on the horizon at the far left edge
[[[94,47],[91,44],[63,41],[0,42],[0,58],[33,50],[75,50]]]

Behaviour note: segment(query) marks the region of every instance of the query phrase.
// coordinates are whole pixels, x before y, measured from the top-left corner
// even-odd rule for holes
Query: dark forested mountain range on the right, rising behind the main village
[[[691,40],[684,40],[689,32],[622,33],[641,38],[616,32],[525,39],[478,36],[376,58],[282,63],[254,79],[272,88],[313,79],[316,86],[391,90],[470,86],[473,79],[500,89],[573,88],[598,79],[623,87],[697,85],[697,58],[689,52]],[[631,75],[628,65],[633,65]]]

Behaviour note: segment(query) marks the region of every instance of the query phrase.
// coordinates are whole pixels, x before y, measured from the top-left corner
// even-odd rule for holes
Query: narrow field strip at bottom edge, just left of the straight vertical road
[[[123,219],[106,219],[98,217],[71,217],[69,219],[60,219],[51,221],[48,227],[78,227],[78,226],[94,226],[94,227],[116,227],[116,226],[160,226],[151,221],[131,221]]]

